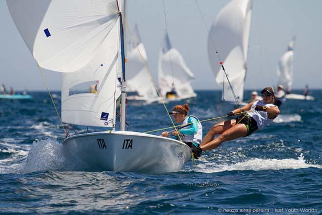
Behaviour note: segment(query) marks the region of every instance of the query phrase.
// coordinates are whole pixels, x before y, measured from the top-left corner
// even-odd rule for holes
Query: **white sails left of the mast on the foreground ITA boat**
[[[7,5],[39,66],[64,72],[62,121],[114,126],[121,94],[117,1],[7,0]]]

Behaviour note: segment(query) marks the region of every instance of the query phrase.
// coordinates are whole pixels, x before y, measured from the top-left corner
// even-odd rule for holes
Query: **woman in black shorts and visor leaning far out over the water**
[[[234,109],[228,113],[232,117],[238,113],[237,119],[222,121],[214,125],[206,134],[200,147],[192,149],[195,157],[199,157],[202,151],[216,149],[221,143],[240,137],[251,135],[255,130],[260,130],[280,114],[280,109],[274,104],[274,89],[265,87],[262,91],[262,100],[251,102],[248,105]],[[220,134],[214,139],[216,134]]]

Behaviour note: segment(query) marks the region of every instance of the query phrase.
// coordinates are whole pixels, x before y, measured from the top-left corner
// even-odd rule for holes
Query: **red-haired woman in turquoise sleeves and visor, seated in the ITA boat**
[[[193,115],[188,115],[189,106],[188,104],[177,105],[175,106],[169,114],[173,115],[176,123],[181,123],[182,126],[190,124],[187,127],[184,127],[178,130],[178,133],[181,135],[181,140],[187,144],[191,149],[199,147],[202,141],[202,126],[199,119]],[[178,133],[173,131],[171,135],[175,139],[178,138]],[[165,131],[161,134],[163,137],[168,137],[169,132]]]

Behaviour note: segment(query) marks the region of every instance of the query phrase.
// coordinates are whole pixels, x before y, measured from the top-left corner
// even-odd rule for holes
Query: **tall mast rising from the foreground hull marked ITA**
[[[124,31],[123,31],[123,20],[122,14],[125,17],[125,6],[126,0],[124,0],[120,15],[120,32],[121,32],[121,58],[122,58],[122,83],[121,83],[121,130],[125,130],[125,113],[126,113],[126,79],[125,79],[125,48],[124,48]]]

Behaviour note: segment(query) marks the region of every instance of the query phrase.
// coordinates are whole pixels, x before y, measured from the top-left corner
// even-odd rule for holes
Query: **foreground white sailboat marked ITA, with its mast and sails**
[[[40,68],[63,74],[62,122],[112,128],[68,136],[62,142],[64,150],[90,171],[181,170],[191,157],[187,145],[166,137],[125,131],[122,19],[126,1],[7,0],[7,5]],[[116,131],[120,95],[121,130]]]

